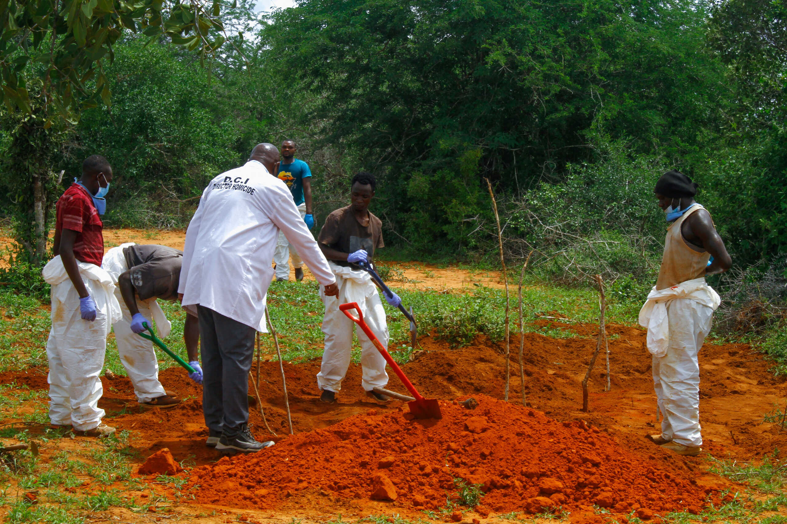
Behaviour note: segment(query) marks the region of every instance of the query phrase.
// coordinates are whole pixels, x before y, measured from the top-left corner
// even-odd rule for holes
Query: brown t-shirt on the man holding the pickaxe
[[[348,205],[327,216],[317,242],[342,253],[355,253],[358,249],[364,249],[371,259],[375,256],[375,249],[385,247],[382,243],[382,221],[369,212],[369,224],[363,226],[355,218],[353,208]],[[347,260],[331,262],[340,266],[355,265],[349,264]]]

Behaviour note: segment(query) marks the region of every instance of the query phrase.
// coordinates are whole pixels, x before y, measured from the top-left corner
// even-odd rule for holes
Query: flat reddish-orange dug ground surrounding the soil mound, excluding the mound
[[[552,327],[557,325],[553,323]],[[567,339],[546,338],[539,334],[525,336],[525,389],[528,404],[532,408],[557,421],[569,423],[584,420],[597,426],[617,445],[626,449],[626,453],[639,456],[641,460],[655,460],[679,476],[700,474],[701,482],[726,482],[715,475],[708,477],[708,474],[701,474],[709,465],[703,456],[674,456],[645,438],[645,435],[658,431],[654,431],[656,401],[644,330],[614,325],[609,327],[612,339],[611,391],[603,391],[604,366],[600,360],[590,384],[590,412],[583,413],[579,411],[582,403],[580,381],[595,346],[593,335],[597,327],[560,327],[575,330],[581,336]],[[415,360],[406,364],[404,369],[425,397],[445,400],[479,394],[497,399],[503,397],[504,357],[499,345],[491,344],[484,338],[478,338],[474,345],[455,350],[431,337],[422,338],[420,343],[423,352],[416,353]],[[513,337],[512,348],[518,347],[518,344],[518,338]],[[718,458],[745,460],[769,454],[774,448],[787,445],[787,434],[783,434],[778,425],[762,423],[763,415],[774,404],[785,404],[787,382],[783,378],[774,378],[767,371],[769,364],[759,353],[752,352],[748,345],[706,344],[700,352],[700,365],[700,414],[705,450]],[[353,415],[367,416],[372,412],[386,415],[396,414],[402,409],[407,411],[406,406],[399,401],[381,405],[365,397],[360,389],[361,370],[357,365],[350,367],[344,388],[338,393],[338,402],[323,404],[319,400],[320,392],[315,380],[319,367],[319,361],[286,364],[296,434],[324,430]],[[512,404],[518,402],[521,392],[518,368],[514,359]],[[11,380],[17,380],[17,383],[26,384],[32,389],[46,389],[46,375],[42,371],[28,370],[0,375],[0,382]],[[200,389],[177,368],[162,372],[161,381],[168,389],[186,399],[181,406],[168,411],[139,411],[127,378],[104,378],[104,397],[100,405],[108,412],[108,422],[119,429],[130,430],[135,435],[133,444],[142,457],[150,456],[161,448],[169,448],[178,460],[194,456],[198,466],[212,467],[219,456],[204,445],[207,430],[202,420]],[[260,413],[254,408],[251,422],[257,437],[282,442],[286,440],[286,418],[280,384],[278,363],[264,362],[260,374],[260,397],[268,424],[278,436],[268,436]],[[390,387],[405,391],[396,378],[391,378]],[[253,388],[249,390],[253,391]],[[277,450],[278,447],[272,449]],[[328,455],[335,454],[333,448],[326,448],[325,452]],[[244,459],[235,458],[232,463],[235,460]],[[326,496],[320,496],[318,487],[313,490],[316,491],[310,491],[308,487],[302,491],[293,489],[291,496],[286,496],[283,502],[270,507],[273,512],[254,509],[242,512],[249,518],[264,518],[280,515],[280,512],[296,515],[300,511],[304,516],[339,513],[368,515],[386,508],[390,511],[393,507],[396,512],[405,515],[413,511],[410,503],[369,501],[364,498],[366,495],[358,500],[341,493],[331,494],[330,490],[325,492],[328,493]],[[199,496],[198,500],[201,500]],[[189,511],[206,511],[205,508],[234,511],[232,504],[212,504],[208,500],[202,500],[201,504],[204,505],[194,507],[192,504]],[[576,510],[572,513],[571,521],[593,521],[593,511]]]

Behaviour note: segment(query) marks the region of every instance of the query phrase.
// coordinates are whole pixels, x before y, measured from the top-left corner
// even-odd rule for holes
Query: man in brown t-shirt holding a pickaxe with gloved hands
[[[327,297],[320,286],[320,296],[325,304],[323,333],[325,350],[317,385],[322,390],[320,400],[332,403],[336,392],[342,389],[342,380],[347,374],[353,345],[353,321],[339,311],[339,305],[356,302],[371,330],[383,346],[388,345],[388,326],[386,312],[382,307],[375,284],[368,272],[360,265],[372,265],[375,249],[384,246],[382,242],[382,221],[369,212],[371,198],[375,196],[375,177],[368,172],[359,172],[350,184],[351,204],[337,209],[327,216],[317,242],[336,276],[339,300]],[[401,298],[396,293],[383,293],[388,304],[398,307]],[[363,367],[361,386],[367,395],[375,400],[386,402],[389,399],[375,392],[388,383],[386,361],[375,349],[375,345],[360,329],[360,364]]]

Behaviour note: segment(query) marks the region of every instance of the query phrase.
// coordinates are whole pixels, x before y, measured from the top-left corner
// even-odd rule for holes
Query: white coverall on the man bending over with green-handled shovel
[[[158,359],[156,352],[153,351],[153,342],[146,338],[140,337],[131,331],[131,312],[120,294],[120,286],[117,285],[117,279],[122,274],[128,271],[126,257],[123,250],[130,245],[135,245],[134,242],[127,242],[109,249],[104,255],[102,261],[102,268],[109,273],[115,284],[115,297],[120,304],[120,312],[123,317],[117,322],[113,323],[115,330],[115,341],[117,342],[117,352],[120,355],[120,362],[126,368],[128,378],[134,386],[134,394],[137,396],[139,403],[150,402],[154,398],[161,397],[166,394],[164,386],[158,381]],[[146,319],[153,320],[156,323],[156,334],[159,338],[165,338],[172,330],[172,324],[169,322],[164,312],[161,311],[161,306],[155,298],[150,298],[146,301],[137,299],[137,308],[139,312]]]

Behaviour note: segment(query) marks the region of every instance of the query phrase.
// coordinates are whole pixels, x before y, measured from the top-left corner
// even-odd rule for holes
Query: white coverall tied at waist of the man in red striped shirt
[[[60,255],[44,266],[44,280],[52,286],[52,328],[46,341],[50,372],[50,420],[58,426],[71,424],[77,431],[92,430],[104,417],[98,408],[103,389],[102,367],[109,327],[120,319],[115,286],[106,271],[79,262],[87,292],[96,304],[96,319],[83,320],[79,293],[68,279]]]

